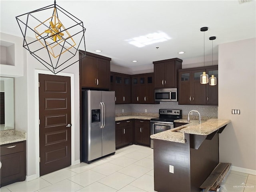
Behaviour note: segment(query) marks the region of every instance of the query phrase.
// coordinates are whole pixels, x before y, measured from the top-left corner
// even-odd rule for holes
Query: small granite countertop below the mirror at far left
[[[18,130],[0,131],[0,145],[27,140],[27,133]]]

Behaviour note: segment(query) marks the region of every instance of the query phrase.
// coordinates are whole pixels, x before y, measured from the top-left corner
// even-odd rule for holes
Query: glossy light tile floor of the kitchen
[[[131,145],[91,164],[80,163],[1,192],[154,192],[153,150]],[[256,176],[230,171],[222,192],[256,192]]]

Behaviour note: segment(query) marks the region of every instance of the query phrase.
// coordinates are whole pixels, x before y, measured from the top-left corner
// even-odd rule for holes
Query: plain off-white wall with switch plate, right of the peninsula
[[[219,45],[220,162],[256,173],[256,38]],[[240,109],[240,115],[231,114]]]

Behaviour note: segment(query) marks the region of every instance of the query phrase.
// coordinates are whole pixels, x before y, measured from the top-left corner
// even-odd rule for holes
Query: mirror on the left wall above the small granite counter
[[[14,78],[0,77],[0,130],[14,129]]]

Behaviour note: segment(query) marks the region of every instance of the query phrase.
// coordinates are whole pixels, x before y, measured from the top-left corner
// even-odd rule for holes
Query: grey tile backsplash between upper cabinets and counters
[[[188,112],[197,110],[202,117],[218,118],[218,106],[205,106],[205,105],[178,105],[178,102],[160,102],[160,104],[118,104],[116,105],[116,114],[120,113],[156,113],[159,109],[181,109],[182,116],[186,118]],[[124,110],[124,112],[122,112]],[[193,113],[192,116],[198,116]]]

